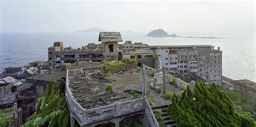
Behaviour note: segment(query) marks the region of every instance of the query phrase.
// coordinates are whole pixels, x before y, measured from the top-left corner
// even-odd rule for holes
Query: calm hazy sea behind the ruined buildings
[[[34,60],[48,59],[48,47],[55,41],[64,46],[82,47],[99,43],[99,33],[0,33],[0,72],[9,66],[24,66]],[[176,33],[178,36],[223,37],[225,39],[156,38],[146,33],[122,33],[123,40],[149,45],[213,45],[223,51],[223,75],[232,79],[248,79],[256,82],[255,33]]]

